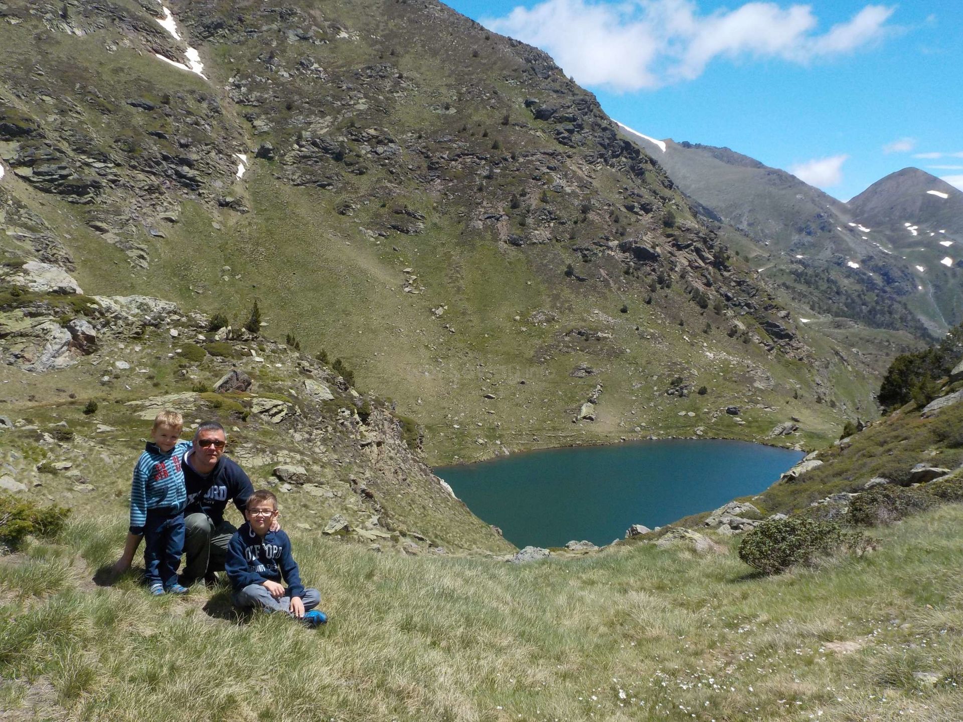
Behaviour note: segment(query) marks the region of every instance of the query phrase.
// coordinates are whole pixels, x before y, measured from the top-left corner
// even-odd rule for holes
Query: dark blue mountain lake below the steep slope
[[[459,499],[519,547],[608,544],[758,494],[803,453],[716,439],[532,451],[435,469]]]

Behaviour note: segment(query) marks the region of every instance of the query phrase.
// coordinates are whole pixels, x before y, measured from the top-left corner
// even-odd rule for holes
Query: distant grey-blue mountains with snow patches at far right
[[[843,203],[729,148],[623,135],[652,153],[706,218],[751,238],[765,277],[815,314],[921,338],[963,319],[959,279],[942,263],[947,254],[933,257],[911,242],[921,223],[950,234],[946,241],[958,235],[952,199],[963,194],[938,178],[905,168]]]

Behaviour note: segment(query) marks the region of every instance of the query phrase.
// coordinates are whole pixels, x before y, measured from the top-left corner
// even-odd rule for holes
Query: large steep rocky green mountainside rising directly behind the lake
[[[814,443],[872,416],[909,340],[806,327],[548,56],[438,3],[8,0],[0,42],[10,268],[234,327],[256,300],[264,335],[422,424],[432,461]],[[37,298],[4,299],[5,359],[46,366]]]

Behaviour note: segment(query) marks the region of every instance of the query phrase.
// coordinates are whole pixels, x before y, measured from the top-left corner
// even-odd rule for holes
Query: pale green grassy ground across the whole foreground
[[[880,531],[880,549],[862,558],[775,578],[749,574],[734,551],[631,545],[512,566],[367,554],[295,530],[302,577],[331,616],[311,632],[279,617],[237,620],[224,591],[156,600],[133,579],[95,588],[88,579],[117,553],[122,523],[76,520],[62,544],[0,559],[0,709],[12,719],[958,719],[961,524],[963,508],[942,507]]]

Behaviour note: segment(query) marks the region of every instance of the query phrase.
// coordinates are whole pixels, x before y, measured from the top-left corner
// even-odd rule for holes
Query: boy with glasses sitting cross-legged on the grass
[[[291,540],[280,529],[271,530],[277,518],[277,498],[264,489],[255,491],[247,498],[245,518],[247,524],[234,532],[224,560],[224,571],[234,589],[234,606],[283,611],[311,627],[325,624],[325,612],[314,608],[321,602],[321,594],[300,583]]]

